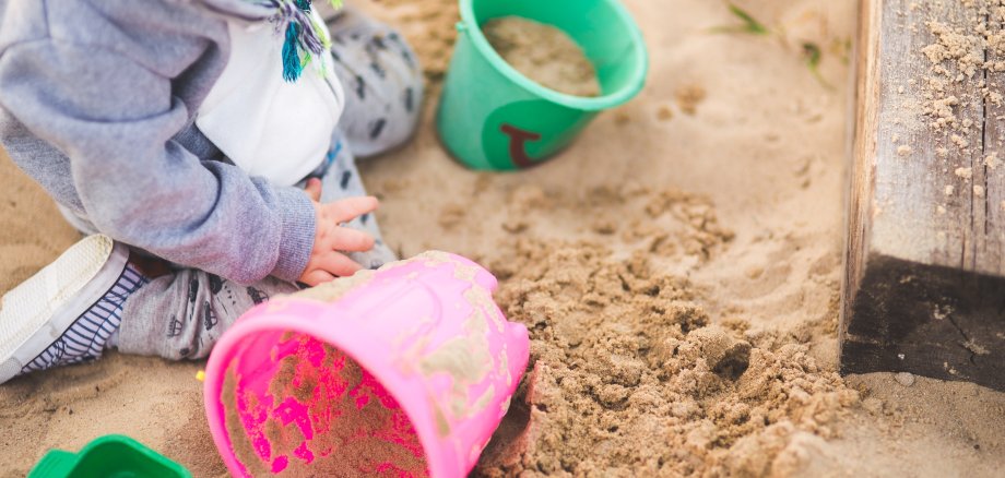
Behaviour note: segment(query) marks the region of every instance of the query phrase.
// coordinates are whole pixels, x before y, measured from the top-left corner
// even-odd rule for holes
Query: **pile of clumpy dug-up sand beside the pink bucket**
[[[518,244],[499,301],[531,330],[533,370],[527,409],[508,417],[519,439],[490,447],[480,475],[788,474],[804,466],[787,450],[795,432],[835,435],[858,392],[804,345],[711,324],[701,295],[647,255]]]

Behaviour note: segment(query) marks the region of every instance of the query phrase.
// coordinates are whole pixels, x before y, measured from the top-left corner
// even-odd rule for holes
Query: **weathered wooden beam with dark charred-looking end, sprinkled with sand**
[[[967,3],[860,0],[843,373],[907,371],[1005,390],[1005,166],[985,160],[1005,159],[1005,106],[985,99],[1005,94],[1005,73],[985,63],[995,50],[967,46],[979,69],[946,72],[966,80],[938,92],[977,98],[951,106],[966,128],[933,127],[921,106],[933,97],[933,61],[922,52],[937,40],[933,19],[959,32],[1003,28]]]

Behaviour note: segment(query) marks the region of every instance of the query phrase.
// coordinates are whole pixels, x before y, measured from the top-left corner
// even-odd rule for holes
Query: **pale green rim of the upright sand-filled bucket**
[[[496,52],[495,48],[488,44],[488,39],[486,39],[485,35],[482,33],[482,26],[475,21],[474,7],[472,5],[473,1],[474,0],[460,0],[461,23],[458,23],[458,29],[466,32],[471,36],[471,40],[474,43],[475,48],[477,48],[478,51],[488,59],[492,65],[503,73],[503,75],[522,88],[544,99],[583,111],[601,111],[622,105],[631,99],[642,89],[642,86],[646,85],[646,75],[649,73],[649,50],[646,48],[646,41],[642,39],[642,32],[639,29],[635,19],[618,0],[603,1],[614,9],[618,20],[628,27],[632,44],[637,45],[641,50],[641,55],[638,57],[638,62],[641,64],[636,65],[635,75],[625,86],[610,94],[594,97],[567,95],[547,88],[524,76],[523,73],[520,73],[517,69],[507,63],[506,60]]]

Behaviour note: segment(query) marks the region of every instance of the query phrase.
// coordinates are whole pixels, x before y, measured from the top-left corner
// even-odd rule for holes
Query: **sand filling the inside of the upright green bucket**
[[[565,32],[504,16],[486,22],[482,33],[507,63],[542,86],[574,96],[600,95],[593,63]]]

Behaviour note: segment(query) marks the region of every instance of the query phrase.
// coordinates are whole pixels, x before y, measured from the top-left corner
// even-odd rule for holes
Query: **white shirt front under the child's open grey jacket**
[[[311,15],[330,38],[324,21]],[[196,126],[249,175],[293,186],[324,159],[345,97],[330,52],[315,56],[296,82],[284,81],[284,37],[273,28],[229,23],[230,58]]]

